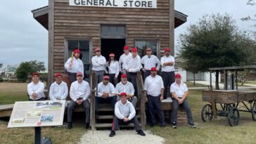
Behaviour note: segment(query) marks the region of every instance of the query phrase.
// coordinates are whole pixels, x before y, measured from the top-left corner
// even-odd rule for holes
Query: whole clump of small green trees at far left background
[[[32,74],[32,72],[40,72],[46,70],[44,62],[37,60],[31,60],[29,62],[20,63],[20,67],[16,70],[16,75],[18,81],[26,81],[27,75]]]

